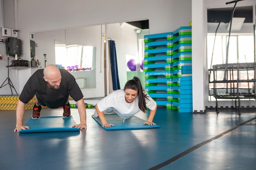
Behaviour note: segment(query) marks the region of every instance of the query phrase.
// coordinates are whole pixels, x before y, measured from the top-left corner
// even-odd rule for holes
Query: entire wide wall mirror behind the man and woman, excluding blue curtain
[[[138,75],[136,72],[127,71],[126,56],[143,55],[141,44],[144,44],[144,35],[149,34],[148,20],[35,31],[31,32],[30,39],[36,44],[35,57],[40,61],[41,68],[48,64],[65,68],[74,75],[85,98],[104,97],[106,30],[108,39],[115,41],[120,87],[123,88],[131,76]],[[31,67],[31,74],[37,69],[38,66]],[[142,73],[141,70],[141,76]],[[144,82],[144,76],[141,78]]]

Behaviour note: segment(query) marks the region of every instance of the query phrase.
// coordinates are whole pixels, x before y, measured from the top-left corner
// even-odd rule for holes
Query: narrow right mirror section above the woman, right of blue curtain
[[[141,30],[140,33],[138,29]],[[139,77],[144,87],[144,72],[141,69],[135,71],[135,67],[144,59],[144,35],[148,34],[148,20],[108,24],[108,38],[116,42],[118,74],[121,88],[124,88],[127,80],[132,79],[134,76]],[[127,64],[129,65],[128,62],[130,59],[135,60],[132,63],[132,70],[127,66]]]

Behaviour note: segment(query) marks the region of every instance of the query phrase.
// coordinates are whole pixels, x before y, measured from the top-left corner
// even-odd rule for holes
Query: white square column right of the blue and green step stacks
[[[206,23],[204,0],[192,0],[192,86],[193,113],[205,112],[206,84]]]

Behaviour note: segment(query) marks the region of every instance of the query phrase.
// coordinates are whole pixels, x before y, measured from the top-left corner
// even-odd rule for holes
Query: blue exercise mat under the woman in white
[[[104,115],[108,123],[114,124],[115,126],[111,127],[102,127],[101,121],[99,117],[94,117],[92,115],[92,118],[97,121],[98,124],[101,125],[101,127],[105,130],[119,130],[119,129],[145,129],[145,128],[159,128],[158,125],[144,125],[145,120],[140,119],[139,117],[132,116],[129,119],[124,119],[120,117],[117,114],[113,115]],[[124,122],[123,122],[124,121]]]

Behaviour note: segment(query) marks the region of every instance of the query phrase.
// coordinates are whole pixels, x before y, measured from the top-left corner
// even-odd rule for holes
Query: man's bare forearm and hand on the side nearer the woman
[[[73,125],[72,127],[76,127],[79,129],[87,128],[86,125],[86,110],[85,110],[85,103],[83,102],[83,98],[81,98],[79,101],[77,101],[77,108],[78,113],[80,116],[80,124]]]

